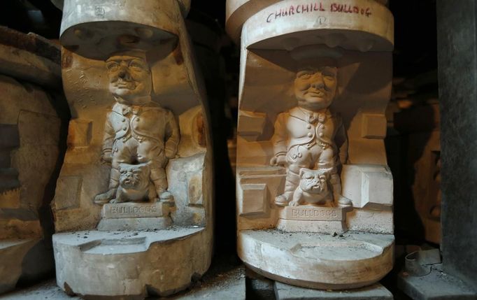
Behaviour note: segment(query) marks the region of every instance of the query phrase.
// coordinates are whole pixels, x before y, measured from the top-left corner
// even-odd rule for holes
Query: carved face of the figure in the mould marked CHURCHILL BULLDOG
[[[309,110],[327,108],[336,94],[337,71],[334,66],[298,71],[294,80],[294,94],[298,105]]]

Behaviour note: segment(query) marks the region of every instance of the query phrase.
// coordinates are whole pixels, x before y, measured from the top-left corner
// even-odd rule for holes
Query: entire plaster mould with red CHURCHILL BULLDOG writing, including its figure
[[[380,1],[227,1],[241,43],[238,255],[253,271],[342,290],[392,269],[393,27]]]

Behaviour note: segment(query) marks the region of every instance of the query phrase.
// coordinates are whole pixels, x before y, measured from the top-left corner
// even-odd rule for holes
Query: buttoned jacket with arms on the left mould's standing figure
[[[144,106],[115,103],[106,116],[104,152],[111,151],[114,141],[120,138],[135,138],[140,143],[155,141],[165,149],[166,157],[172,158],[176,156],[180,133],[173,113],[152,101]]]

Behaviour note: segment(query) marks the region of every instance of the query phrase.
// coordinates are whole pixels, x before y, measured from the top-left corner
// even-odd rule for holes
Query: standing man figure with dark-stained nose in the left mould
[[[106,60],[106,69],[109,91],[116,101],[106,116],[102,151],[102,159],[111,162],[111,177],[108,192],[97,195],[94,202],[128,201],[127,197],[117,196],[120,169],[131,170],[135,165],[142,169],[138,172],[142,177],[143,167],[147,165],[148,176],[126,178],[129,185],[134,180],[150,180],[161,201],[173,201],[167,190],[165,167],[176,156],[180,133],[173,113],[151,100],[152,77],[145,52],[116,53]],[[138,183],[138,186],[148,187],[148,184]]]

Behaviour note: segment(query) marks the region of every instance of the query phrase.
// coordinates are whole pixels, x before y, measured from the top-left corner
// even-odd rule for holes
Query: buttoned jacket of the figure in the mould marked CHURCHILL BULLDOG
[[[285,155],[296,145],[311,148],[318,144],[336,150],[336,143],[340,148],[346,143],[347,148],[341,117],[328,109],[323,113],[316,113],[298,106],[277,116],[272,143],[275,155]]]

